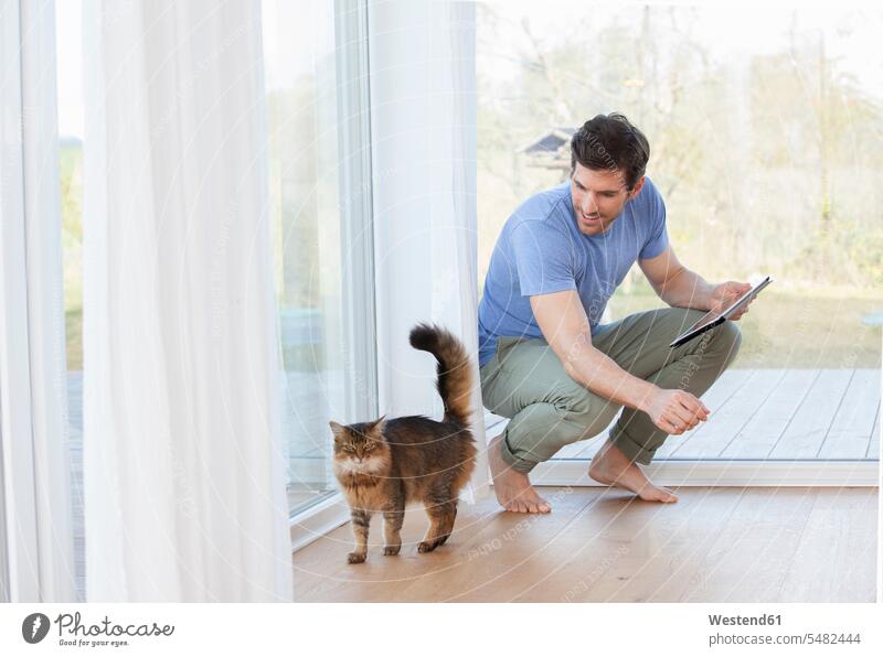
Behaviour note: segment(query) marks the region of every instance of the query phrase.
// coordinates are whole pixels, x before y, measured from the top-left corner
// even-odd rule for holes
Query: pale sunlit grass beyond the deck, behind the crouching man
[[[616,294],[614,319],[664,308],[652,293]],[[813,295],[811,292],[764,291],[738,321],[742,348],[733,364],[740,369],[877,368],[881,328],[861,323],[883,311],[883,297]]]

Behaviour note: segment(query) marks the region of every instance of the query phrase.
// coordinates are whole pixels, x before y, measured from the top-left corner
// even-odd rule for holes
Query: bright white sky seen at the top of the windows
[[[523,17],[542,39],[554,39],[564,30],[591,21],[596,12],[629,11],[623,2],[586,3],[575,0],[507,0],[490,2],[504,8],[513,25]],[[883,100],[883,8],[873,4],[829,2],[825,4],[766,2],[640,2],[645,4],[698,7],[702,30],[696,35],[717,58],[744,57],[780,50],[795,7],[797,30],[825,33],[826,49],[841,71],[857,77],[864,90]],[[625,9],[624,9],[625,7]],[[331,0],[268,0],[264,4],[264,42],[268,89],[289,86],[298,75],[313,69],[316,61],[332,47],[333,2]],[[58,78],[58,132],[83,136],[82,0],[57,0],[56,43]],[[480,13],[479,13],[480,15]],[[513,26],[514,31],[514,26]],[[512,34],[499,34],[501,44]],[[499,57],[480,57],[485,72],[498,79],[512,75],[511,63]]]

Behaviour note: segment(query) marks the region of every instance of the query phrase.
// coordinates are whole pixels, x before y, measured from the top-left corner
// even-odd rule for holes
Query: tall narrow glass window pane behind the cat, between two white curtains
[[[329,420],[353,422],[376,410],[368,356],[374,327],[366,89],[354,73],[366,44],[340,40],[362,18],[357,3],[264,2],[292,513],[336,491]]]

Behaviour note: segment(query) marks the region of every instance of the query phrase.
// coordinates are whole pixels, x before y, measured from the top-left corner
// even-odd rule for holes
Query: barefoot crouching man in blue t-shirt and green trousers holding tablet
[[[675,502],[640,464],[669,434],[708,419],[698,397],[738,351],[732,322],[668,346],[749,284],[711,284],[678,261],[662,197],[645,176],[649,153],[626,117],[596,116],[573,136],[570,181],[524,202],[497,241],[478,311],[479,363],[485,406],[511,418],[489,446],[497,499],[508,510],[551,510],[530,471],[598,434],[620,409],[589,476],[643,499]],[[602,325],[607,300],[636,261],[671,308]]]

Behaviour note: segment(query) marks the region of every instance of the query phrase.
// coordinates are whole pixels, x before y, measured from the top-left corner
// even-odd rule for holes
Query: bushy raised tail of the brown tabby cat
[[[417,324],[411,330],[411,346],[429,352],[438,360],[438,394],[445,402],[445,421],[469,426],[472,363],[466,347],[440,326]]]

